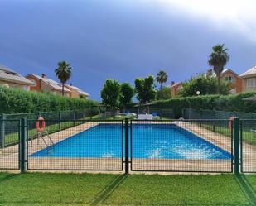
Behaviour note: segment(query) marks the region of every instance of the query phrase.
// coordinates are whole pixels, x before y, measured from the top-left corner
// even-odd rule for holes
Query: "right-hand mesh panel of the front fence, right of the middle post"
[[[229,120],[130,122],[132,171],[233,172]]]

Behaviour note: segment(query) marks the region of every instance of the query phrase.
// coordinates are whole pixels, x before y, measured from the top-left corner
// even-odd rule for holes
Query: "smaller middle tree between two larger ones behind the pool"
[[[126,82],[121,84],[120,106],[126,108],[127,103],[132,101],[133,96],[134,89],[131,84]]]

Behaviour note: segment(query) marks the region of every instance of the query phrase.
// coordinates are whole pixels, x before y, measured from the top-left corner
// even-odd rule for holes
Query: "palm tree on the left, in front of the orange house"
[[[58,77],[58,79],[60,79],[60,82],[62,84],[62,96],[64,96],[64,84],[67,82],[67,80],[70,79],[71,69],[72,67],[69,63],[65,61],[60,61],[58,63],[58,68],[55,70],[56,76]]]

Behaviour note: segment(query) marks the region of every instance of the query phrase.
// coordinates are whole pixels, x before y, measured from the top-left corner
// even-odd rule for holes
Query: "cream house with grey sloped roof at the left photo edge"
[[[1,84],[7,87],[30,90],[30,86],[33,83],[21,74],[18,74],[16,71],[7,68],[4,65],[0,65],[0,85]]]

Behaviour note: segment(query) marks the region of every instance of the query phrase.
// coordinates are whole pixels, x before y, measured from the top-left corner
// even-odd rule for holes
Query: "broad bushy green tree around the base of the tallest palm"
[[[215,94],[218,87],[218,81],[214,76],[199,74],[183,83],[179,93],[182,97],[196,96],[197,91],[200,91],[200,95]],[[220,82],[220,94],[229,94],[229,91],[229,84]]]

